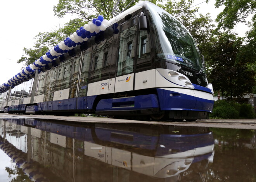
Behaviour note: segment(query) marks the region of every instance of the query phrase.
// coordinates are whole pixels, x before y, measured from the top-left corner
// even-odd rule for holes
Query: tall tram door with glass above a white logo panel
[[[138,16],[119,25],[119,48],[114,92],[133,90]]]

